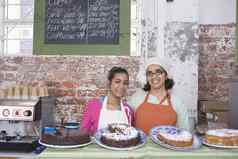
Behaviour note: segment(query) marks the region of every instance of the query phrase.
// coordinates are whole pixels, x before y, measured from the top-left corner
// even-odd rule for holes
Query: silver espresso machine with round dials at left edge
[[[41,127],[41,100],[0,99],[0,151],[32,151]]]

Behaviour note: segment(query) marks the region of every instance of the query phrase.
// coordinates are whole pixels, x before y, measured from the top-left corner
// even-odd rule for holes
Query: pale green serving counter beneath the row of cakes
[[[47,148],[38,159],[237,159],[238,149],[217,149],[202,146],[200,149],[179,152],[161,147],[148,139],[145,146],[131,151],[113,151],[90,144],[86,147],[75,149]]]

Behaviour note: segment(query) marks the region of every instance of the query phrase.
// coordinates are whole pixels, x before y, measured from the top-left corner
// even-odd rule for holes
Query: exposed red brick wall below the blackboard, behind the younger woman
[[[80,120],[85,100],[107,94],[107,73],[113,66],[128,70],[131,95],[138,87],[138,62],[136,57],[1,57],[0,89],[14,85],[47,87],[49,95],[58,97],[56,119]]]

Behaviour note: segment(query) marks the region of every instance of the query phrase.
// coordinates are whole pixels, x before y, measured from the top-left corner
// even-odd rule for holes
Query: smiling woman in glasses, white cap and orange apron
[[[187,110],[169,90],[174,86],[169,67],[162,58],[151,58],[146,62],[146,83],[137,91],[129,104],[135,110],[135,126],[149,133],[159,125],[174,125],[189,129]]]

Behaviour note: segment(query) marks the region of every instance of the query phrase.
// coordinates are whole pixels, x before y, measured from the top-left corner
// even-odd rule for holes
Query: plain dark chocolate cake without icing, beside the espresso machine
[[[90,142],[90,136],[78,129],[72,131],[61,127],[54,134],[42,134],[41,141],[50,145],[81,145]]]

